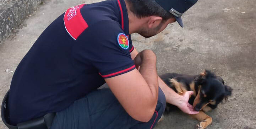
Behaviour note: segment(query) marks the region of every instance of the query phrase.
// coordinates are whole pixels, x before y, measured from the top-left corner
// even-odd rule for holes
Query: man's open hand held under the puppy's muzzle
[[[176,106],[180,108],[181,111],[187,114],[197,114],[199,112],[195,111],[193,106],[189,104],[189,96],[193,95],[194,91],[186,91],[176,102]]]

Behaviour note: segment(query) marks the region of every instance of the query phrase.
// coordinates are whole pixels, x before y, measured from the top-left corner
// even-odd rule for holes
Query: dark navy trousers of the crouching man
[[[51,129],[153,129],[165,108],[165,96],[159,88],[156,111],[149,122],[129,116],[110,89],[93,91],[57,112]]]

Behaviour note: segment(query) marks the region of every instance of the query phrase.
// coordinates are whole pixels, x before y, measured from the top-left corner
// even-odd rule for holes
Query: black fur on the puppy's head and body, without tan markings
[[[232,94],[233,90],[230,86],[224,84],[224,80],[221,77],[216,76],[214,73],[208,70],[205,70],[205,72],[201,73],[200,75],[166,73],[161,75],[160,78],[175,92],[177,92],[177,90],[175,89],[174,85],[170,83],[169,79],[174,78],[175,80],[177,80],[177,82],[185,84],[185,88],[187,91],[192,91],[189,84],[194,82],[196,95],[200,95],[200,100],[194,107],[196,111],[199,111],[203,105],[209,103],[210,101],[213,101],[215,103],[209,103],[207,106],[212,109],[216,108],[218,104],[223,101],[224,98],[225,101],[227,100],[228,96]],[[199,88],[201,89],[198,93]],[[196,96],[193,95],[190,97],[189,103],[191,105],[193,105],[195,97]],[[174,108],[175,106],[167,103],[165,112],[168,113]]]

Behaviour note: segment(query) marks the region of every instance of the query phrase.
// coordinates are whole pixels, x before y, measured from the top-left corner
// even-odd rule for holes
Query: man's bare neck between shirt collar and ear
[[[129,19],[129,33],[136,33],[138,30],[143,26],[147,20],[145,18],[138,18],[135,16],[134,13],[131,12],[129,3],[125,0],[125,5],[128,13],[128,19]]]

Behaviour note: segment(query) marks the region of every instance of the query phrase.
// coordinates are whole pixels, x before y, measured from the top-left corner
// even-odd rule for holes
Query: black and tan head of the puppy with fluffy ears
[[[196,97],[193,107],[196,111],[202,110],[209,103],[217,106],[220,102],[228,99],[232,94],[232,88],[224,84],[224,80],[214,73],[205,70],[195,80]]]

